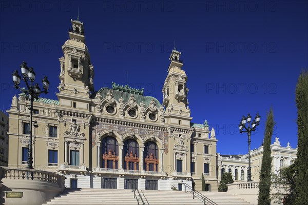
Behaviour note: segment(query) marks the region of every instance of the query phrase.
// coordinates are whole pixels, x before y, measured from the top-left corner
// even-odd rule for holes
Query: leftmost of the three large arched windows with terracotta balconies
[[[118,169],[119,143],[114,137],[102,140],[103,168]]]

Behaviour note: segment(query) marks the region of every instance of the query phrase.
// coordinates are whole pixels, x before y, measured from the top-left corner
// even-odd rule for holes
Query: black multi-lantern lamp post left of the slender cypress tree
[[[256,131],[256,127],[259,126],[260,115],[257,113],[255,119],[252,121],[252,116],[250,114],[247,117],[243,116],[239,125],[240,133],[247,132],[248,135],[248,176],[247,181],[252,181],[252,172],[251,172],[251,156],[250,156],[250,144],[251,144],[251,132]],[[246,122],[248,126],[246,127]],[[243,130],[245,129],[245,130]]]

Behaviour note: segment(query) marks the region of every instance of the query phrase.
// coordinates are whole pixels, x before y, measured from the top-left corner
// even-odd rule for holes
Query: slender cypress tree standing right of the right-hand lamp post
[[[274,115],[273,109],[271,108],[266,116],[265,132],[263,139],[263,158],[260,171],[260,183],[259,183],[259,195],[258,204],[260,205],[271,205],[271,168],[272,168],[272,157],[271,157],[271,142],[272,135],[274,132]]]

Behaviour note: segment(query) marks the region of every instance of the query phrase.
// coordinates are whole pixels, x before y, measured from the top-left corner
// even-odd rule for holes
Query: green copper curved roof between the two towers
[[[100,94],[102,96],[102,99],[106,97],[107,92],[109,90],[112,90],[110,88],[101,88],[99,91],[95,91],[94,93],[92,93],[91,98],[94,99],[95,96],[97,94]],[[112,93],[114,95],[114,99],[119,101],[119,99],[122,97],[124,100],[124,103],[127,103],[129,100],[129,97],[132,93],[129,92],[124,92],[124,91],[120,91],[120,90],[112,90]],[[145,107],[148,107],[150,105],[150,102],[152,99],[154,99],[154,101],[156,102],[156,106],[158,108],[161,107],[160,102],[152,96],[143,96],[143,95],[139,95],[139,94],[133,94],[134,98],[136,98],[136,103],[140,105],[140,103],[143,101],[143,103],[145,104]]]

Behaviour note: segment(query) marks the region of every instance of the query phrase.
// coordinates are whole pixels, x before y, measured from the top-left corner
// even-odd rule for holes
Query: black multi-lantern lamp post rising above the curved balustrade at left
[[[21,88],[20,81],[21,81],[21,76],[18,74],[18,71],[15,70],[12,74],[13,77],[13,82],[14,82],[14,88],[15,89],[20,89],[23,93],[25,93],[30,100],[30,123],[29,123],[29,134],[30,134],[30,141],[29,141],[29,150],[28,150],[28,167],[27,169],[33,169],[32,163],[33,163],[33,157],[32,157],[32,111],[33,111],[33,98],[35,97],[36,99],[41,93],[47,94],[48,88],[49,88],[49,81],[47,77],[45,76],[42,79],[42,84],[44,91],[41,91],[41,88],[38,86],[36,83],[33,86],[33,81],[35,79],[35,72],[32,67],[28,68],[27,63],[24,61],[21,65],[21,71],[22,71],[22,79],[25,81],[27,89]],[[28,80],[30,80],[30,85],[28,83]]]

